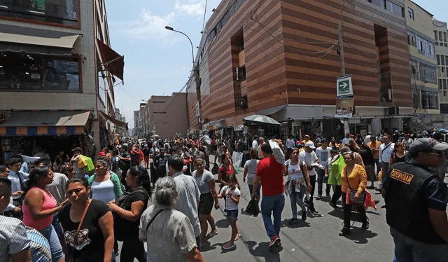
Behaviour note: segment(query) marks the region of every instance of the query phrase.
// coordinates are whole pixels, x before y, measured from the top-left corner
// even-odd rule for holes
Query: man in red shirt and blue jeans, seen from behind
[[[281,149],[284,152],[283,145]],[[285,206],[283,165],[278,163],[272,152],[269,143],[262,144],[261,150],[264,158],[258,163],[253,181],[252,198],[257,195],[258,185],[263,185],[261,199],[261,214],[265,223],[266,233],[271,242],[269,247],[276,247],[280,244],[281,212]],[[272,223],[274,216],[274,223]]]

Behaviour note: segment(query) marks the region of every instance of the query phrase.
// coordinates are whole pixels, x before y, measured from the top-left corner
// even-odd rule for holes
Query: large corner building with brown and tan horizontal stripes
[[[198,129],[198,121],[203,127],[236,126],[261,113],[299,122],[311,133],[337,135],[342,2],[221,1],[195,61],[201,88],[187,83],[190,130]],[[342,8],[345,69],[356,107],[351,132],[401,130],[412,116],[405,6],[405,0],[352,0]]]

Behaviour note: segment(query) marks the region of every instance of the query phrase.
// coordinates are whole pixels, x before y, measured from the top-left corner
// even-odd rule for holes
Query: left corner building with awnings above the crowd
[[[76,135],[109,144],[125,125],[113,92],[124,60],[111,49],[105,1],[3,1],[0,20],[2,144]]]

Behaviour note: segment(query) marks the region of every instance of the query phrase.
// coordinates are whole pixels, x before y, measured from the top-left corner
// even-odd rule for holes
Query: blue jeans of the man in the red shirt
[[[266,233],[270,239],[274,235],[280,235],[281,212],[283,211],[283,207],[285,207],[285,195],[283,193],[279,195],[263,195],[261,199],[263,223],[265,223]],[[272,223],[272,214],[274,215],[274,223]]]

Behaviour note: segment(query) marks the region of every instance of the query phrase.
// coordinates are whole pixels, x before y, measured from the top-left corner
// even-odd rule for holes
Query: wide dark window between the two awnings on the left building
[[[79,62],[26,53],[0,53],[0,90],[79,92]]]

